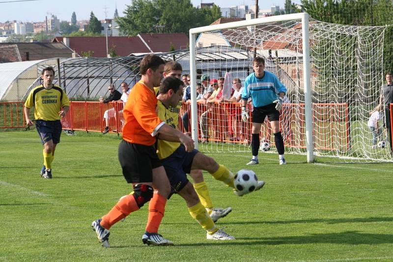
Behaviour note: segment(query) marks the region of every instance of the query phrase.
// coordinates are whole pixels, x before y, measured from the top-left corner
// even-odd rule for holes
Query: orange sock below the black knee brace
[[[102,217],[100,225],[109,230],[112,225],[136,210],[139,210],[139,207],[134,196],[124,196],[119,200],[119,202],[117,202],[112,210],[108,212],[108,214]]]

